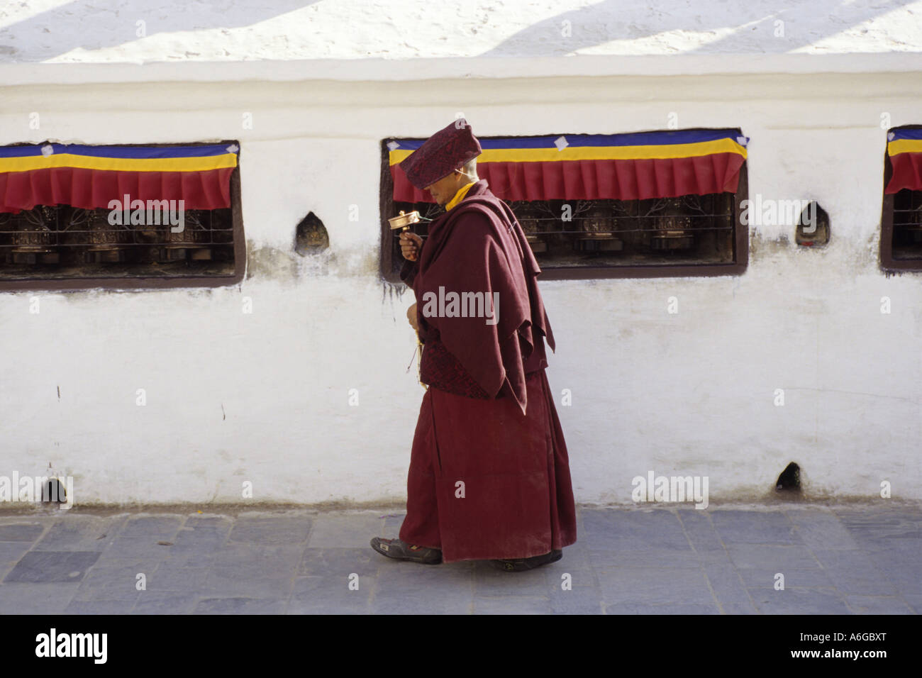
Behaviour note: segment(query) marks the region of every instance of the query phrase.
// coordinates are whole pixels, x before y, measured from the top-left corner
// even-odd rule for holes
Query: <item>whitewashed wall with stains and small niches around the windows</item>
[[[298,65],[236,71],[247,81],[207,66],[0,70],[0,143],[240,139],[248,254],[232,288],[41,292],[38,315],[35,293],[0,293],[0,474],[51,464],[75,477],[77,504],[250,501],[243,481],[252,501],[399,503],[422,389],[406,371],[412,292],[377,272],[381,139],[458,112],[479,135],[661,129],[677,113],[680,127],[740,126],[751,196],[818,200],[832,242],[802,250],[793,224],[763,227],[741,276],[541,284],[550,384],[573,392],[558,410],[577,501],[630,502],[648,470],[706,475],[712,502],[758,500],[790,461],[811,496],[889,480],[922,498],[922,275],[887,277],[877,261],[881,113],[922,122],[922,75],[864,58],[815,75],[809,61],[658,77],[644,73],[661,61],[586,63],[545,78],[521,63],[474,78],[467,64],[344,66],[338,81]],[[413,73],[434,75],[400,79]],[[312,210],[331,246],[305,259],[293,235]]]

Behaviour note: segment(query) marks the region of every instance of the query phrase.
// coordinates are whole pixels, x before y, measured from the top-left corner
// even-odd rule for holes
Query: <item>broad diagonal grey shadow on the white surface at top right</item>
[[[715,41],[681,54],[770,53],[785,54],[869,19],[890,14],[915,0],[876,4],[867,0],[810,0],[771,3],[713,4],[711,15],[688,0],[666,0],[653,6],[605,0],[539,21],[506,38],[480,56],[554,56],[572,54],[616,40],[652,38],[671,30],[694,33],[731,30]],[[778,8],[782,6],[782,8]],[[702,16],[704,15],[704,16]],[[775,37],[775,21],[785,22],[783,37]],[[564,24],[569,21],[569,25]],[[564,33],[569,32],[569,35]]]

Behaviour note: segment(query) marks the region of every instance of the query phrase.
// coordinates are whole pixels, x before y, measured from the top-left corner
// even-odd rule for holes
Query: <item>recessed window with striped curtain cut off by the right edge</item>
[[[887,133],[883,179],[881,266],[922,270],[922,126]]]

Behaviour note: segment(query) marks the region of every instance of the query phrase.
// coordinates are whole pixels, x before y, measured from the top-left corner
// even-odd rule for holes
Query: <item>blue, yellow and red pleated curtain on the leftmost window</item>
[[[0,148],[0,212],[36,205],[108,208],[112,200],[180,200],[186,209],[231,207],[236,145]]]

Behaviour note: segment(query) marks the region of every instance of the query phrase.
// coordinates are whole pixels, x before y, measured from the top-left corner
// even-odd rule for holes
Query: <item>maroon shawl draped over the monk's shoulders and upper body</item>
[[[491,398],[505,391],[523,412],[526,372],[546,366],[544,339],[555,349],[538,291],[540,272],[513,211],[481,180],[455,208],[431,222],[419,266],[402,273],[416,292],[420,339],[441,340]],[[437,299],[440,287],[443,295],[483,292],[488,300],[498,292],[498,322],[425,316],[424,295],[432,292]]]

